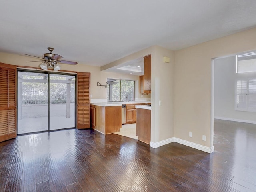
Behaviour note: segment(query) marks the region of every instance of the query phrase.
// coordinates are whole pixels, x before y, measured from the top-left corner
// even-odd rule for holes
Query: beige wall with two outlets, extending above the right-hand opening
[[[211,60],[256,49],[256,28],[175,52],[174,136],[213,146]],[[189,132],[192,132],[190,138]],[[206,135],[206,141],[202,141]]]

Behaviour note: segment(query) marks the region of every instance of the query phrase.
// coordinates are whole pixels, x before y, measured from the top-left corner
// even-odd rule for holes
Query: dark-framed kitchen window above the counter
[[[134,81],[107,79],[108,101],[134,101]]]

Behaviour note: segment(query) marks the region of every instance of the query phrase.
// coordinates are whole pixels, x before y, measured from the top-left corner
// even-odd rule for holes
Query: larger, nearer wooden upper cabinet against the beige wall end
[[[151,55],[144,57],[144,93],[151,93]]]

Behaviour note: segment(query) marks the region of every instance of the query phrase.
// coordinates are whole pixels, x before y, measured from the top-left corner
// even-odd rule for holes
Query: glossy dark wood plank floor
[[[214,147],[153,149],[94,130],[18,136],[0,143],[0,192],[256,191],[256,125],[215,120]]]

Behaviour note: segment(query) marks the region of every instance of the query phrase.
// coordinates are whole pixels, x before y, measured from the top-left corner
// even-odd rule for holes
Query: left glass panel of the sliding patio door
[[[18,71],[17,133],[48,130],[48,74]]]

